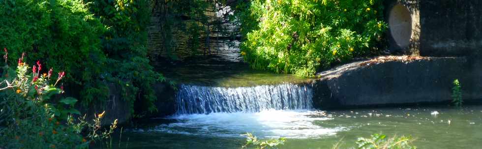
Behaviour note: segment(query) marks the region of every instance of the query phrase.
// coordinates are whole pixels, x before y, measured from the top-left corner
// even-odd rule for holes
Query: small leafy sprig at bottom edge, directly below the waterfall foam
[[[259,140],[256,136],[251,133],[243,134],[246,136],[246,144],[242,148],[247,148],[248,146],[256,147],[256,149],[277,149],[278,146],[283,145],[286,141],[285,138],[270,139],[270,140]]]

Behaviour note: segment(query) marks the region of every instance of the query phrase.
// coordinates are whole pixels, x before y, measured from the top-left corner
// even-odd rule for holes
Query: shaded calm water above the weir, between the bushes
[[[229,46],[234,42],[234,46]],[[197,54],[177,51],[181,60],[155,65],[157,71],[179,84],[193,84],[216,87],[251,87],[279,83],[303,83],[303,79],[290,74],[274,74],[268,71],[252,70],[243,62],[238,48],[239,41],[212,40],[211,54],[203,49]]]

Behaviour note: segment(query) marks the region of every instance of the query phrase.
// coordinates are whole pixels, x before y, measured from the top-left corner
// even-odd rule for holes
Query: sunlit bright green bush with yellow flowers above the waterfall
[[[254,69],[311,76],[377,51],[382,0],[252,0],[238,5],[244,60]]]

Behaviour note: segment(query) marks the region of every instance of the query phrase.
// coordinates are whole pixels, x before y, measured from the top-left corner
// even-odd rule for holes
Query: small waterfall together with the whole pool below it
[[[124,130],[120,148],[240,149],[241,134],[287,138],[281,149],[355,146],[373,133],[412,136],[419,149],[481,149],[482,106],[312,108],[311,89],[294,84],[256,87],[182,86],[177,114]]]

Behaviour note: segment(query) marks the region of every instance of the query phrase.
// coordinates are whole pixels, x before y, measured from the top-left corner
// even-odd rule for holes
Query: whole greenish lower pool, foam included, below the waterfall
[[[121,149],[240,149],[244,132],[287,137],[281,149],[351,147],[373,133],[411,135],[419,149],[481,149],[481,116],[482,106],[180,115],[124,130]]]

